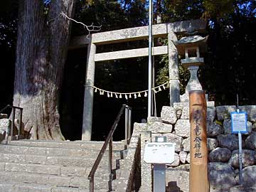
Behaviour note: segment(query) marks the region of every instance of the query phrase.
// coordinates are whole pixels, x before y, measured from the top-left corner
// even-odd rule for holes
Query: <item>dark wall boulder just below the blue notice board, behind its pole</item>
[[[238,149],[238,136],[235,134],[220,134],[217,137],[220,147],[228,148],[231,151]],[[242,148],[244,148],[245,142],[242,140]]]

